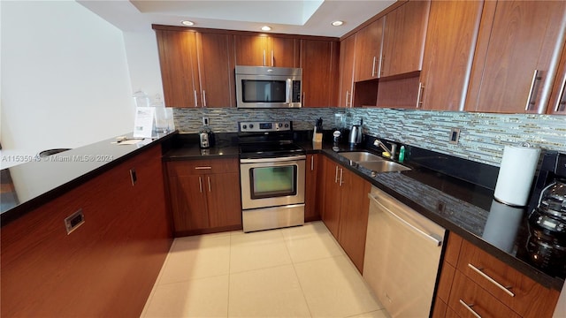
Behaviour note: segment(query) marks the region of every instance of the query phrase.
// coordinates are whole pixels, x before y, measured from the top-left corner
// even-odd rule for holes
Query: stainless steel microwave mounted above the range
[[[236,73],[237,108],[300,108],[302,69],[239,66]]]

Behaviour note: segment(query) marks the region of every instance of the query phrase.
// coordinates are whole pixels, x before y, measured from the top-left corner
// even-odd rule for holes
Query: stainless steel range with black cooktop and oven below
[[[293,123],[240,122],[244,232],[304,223],[306,152],[293,142]]]

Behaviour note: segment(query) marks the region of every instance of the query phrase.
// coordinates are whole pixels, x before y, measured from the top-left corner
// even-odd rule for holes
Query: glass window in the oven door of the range
[[[251,198],[265,199],[297,194],[297,166],[252,168]]]

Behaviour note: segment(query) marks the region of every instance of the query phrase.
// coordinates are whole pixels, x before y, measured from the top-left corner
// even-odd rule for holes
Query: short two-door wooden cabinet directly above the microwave
[[[293,37],[234,35],[237,65],[298,67],[299,43]]]

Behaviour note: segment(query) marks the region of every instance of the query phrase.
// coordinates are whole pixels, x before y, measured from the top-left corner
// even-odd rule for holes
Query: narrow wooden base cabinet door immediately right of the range
[[[305,176],[305,198],[304,198],[304,221],[312,222],[320,220],[318,212],[318,175],[321,170],[321,155],[307,155]]]

